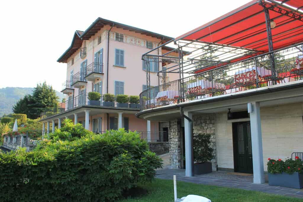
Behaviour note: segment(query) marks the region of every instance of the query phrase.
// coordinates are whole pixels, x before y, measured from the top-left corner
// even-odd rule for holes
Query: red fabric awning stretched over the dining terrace
[[[301,9],[303,6],[302,0],[284,0],[283,2],[294,8]],[[290,11],[290,9],[279,5],[278,2],[277,4],[267,1],[265,3],[267,8],[275,5],[276,8],[280,7]],[[269,10],[269,16],[270,19],[276,23],[275,28],[271,29],[274,49],[287,47],[302,41],[302,21],[273,10]],[[268,42],[264,8],[259,4],[259,0],[253,0],[205,25],[175,38],[175,41],[177,40],[198,40],[249,48],[266,53],[268,52]],[[239,61],[239,59],[237,59],[237,61]],[[205,69],[203,69],[203,71],[205,71]]]

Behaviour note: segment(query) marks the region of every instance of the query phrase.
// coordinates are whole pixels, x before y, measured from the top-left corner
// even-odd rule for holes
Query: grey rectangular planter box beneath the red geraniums
[[[302,189],[303,174],[298,172],[294,172],[293,174],[284,172],[275,174],[268,173],[268,184],[271,186]]]

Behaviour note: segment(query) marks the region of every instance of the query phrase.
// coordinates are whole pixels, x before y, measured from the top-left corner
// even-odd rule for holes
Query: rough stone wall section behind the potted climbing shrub
[[[194,115],[193,119],[193,129],[194,136],[199,133],[207,133],[211,135],[211,147],[214,149],[213,155],[214,159],[211,160],[212,170],[217,170],[217,156],[216,156],[216,133],[215,133],[215,114],[199,114]]]

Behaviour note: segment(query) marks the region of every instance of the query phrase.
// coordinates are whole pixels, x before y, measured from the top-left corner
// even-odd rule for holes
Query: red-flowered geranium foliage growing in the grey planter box
[[[294,172],[302,173],[303,170],[303,161],[299,157],[295,157],[293,159],[286,159],[285,161],[278,159],[271,159],[268,158],[267,162],[267,171],[268,173],[275,174],[275,173],[288,173],[293,174]]]

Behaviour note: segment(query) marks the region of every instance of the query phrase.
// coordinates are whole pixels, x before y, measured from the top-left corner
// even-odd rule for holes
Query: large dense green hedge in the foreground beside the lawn
[[[75,141],[43,141],[35,151],[0,153],[3,201],[116,201],[151,180],[161,159],[123,130]]]

